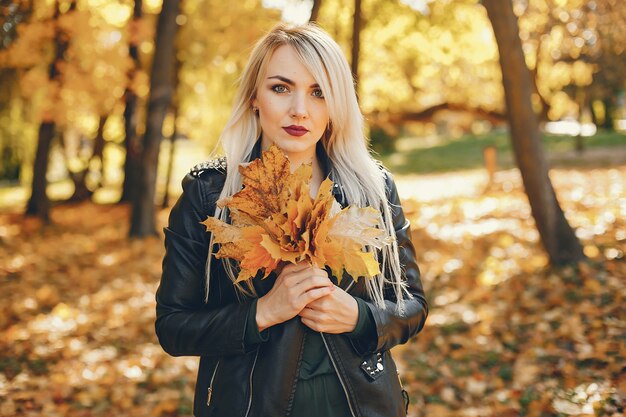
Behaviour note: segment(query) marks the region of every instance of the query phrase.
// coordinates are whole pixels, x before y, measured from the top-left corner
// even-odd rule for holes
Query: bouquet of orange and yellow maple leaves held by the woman
[[[287,262],[308,261],[330,267],[341,281],[345,270],[354,280],[380,273],[374,252],[390,243],[372,207],[341,208],[325,179],[313,199],[308,182],[312,166],[303,164],[293,173],[282,151],[272,145],[261,158],[240,166],[244,188],[217,202],[230,210],[231,224],[209,216],[202,224],[219,243],[217,258],[239,262],[237,282],[262,271],[263,278]]]

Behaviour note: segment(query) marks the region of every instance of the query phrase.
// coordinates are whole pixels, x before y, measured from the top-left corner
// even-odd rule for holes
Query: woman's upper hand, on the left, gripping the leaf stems
[[[272,289],[257,301],[259,331],[297,316],[307,304],[333,292],[325,270],[307,262],[285,266]]]

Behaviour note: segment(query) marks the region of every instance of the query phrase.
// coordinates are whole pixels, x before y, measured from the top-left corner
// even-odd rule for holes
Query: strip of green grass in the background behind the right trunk
[[[456,139],[439,139],[433,146],[423,144],[426,140],[400,138],[395,152],[378,157],[391,171],[399,174],[449,172],[484,167],[483,149],[495,146],[498,168],[515,166],[508,133],[492,131],[482,135],[465,135]],[[576,139],[569,136],[544,134],[543,144],[551,166],[604,166],[605,161],[592,155],[575,154]],[[626,134],[600,131],[584,138],[585,150],[619,148],[626,158]],[[610,153],[610,152],[609,152]],[[625,159],[624,163],[626,163]]]

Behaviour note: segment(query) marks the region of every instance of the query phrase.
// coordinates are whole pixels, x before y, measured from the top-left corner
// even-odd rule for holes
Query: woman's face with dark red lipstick
[[[275,144],[300,162],[315,157],[328,109],[320,86],[291,46],[272,54],[252,105],[258,108],[263,149]]]

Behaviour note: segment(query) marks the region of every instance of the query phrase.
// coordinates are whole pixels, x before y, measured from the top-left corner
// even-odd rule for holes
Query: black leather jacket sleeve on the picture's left
[[[215,211],[221,188],[215,184],[219,175],[187,175],[183,194],[164,229],[165,256],[156,293],[155,329],[159,343],[172,356],[222,356],[249,350],[244,334],[251,303],[230,298],[230,302],[209,308],[204,302],[210,234],[200,222]],[[216,273],[216,265],[212,263],[211,274]],[[210,281],[210,295],[221,297],[217,277]],[[211,293],[216,291],[217,295]]]

